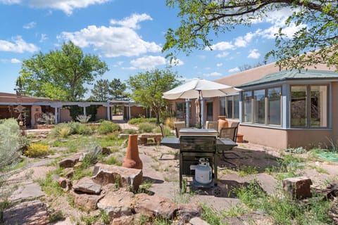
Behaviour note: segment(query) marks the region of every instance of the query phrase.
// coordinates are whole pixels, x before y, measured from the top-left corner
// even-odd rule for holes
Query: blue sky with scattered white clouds
[[[180,53],[173,70],[185,80],[213,80],[263,62],[289,13],[273,12],[251,27],[220,34],[213,38],[213,51]],[[0,0],[0,21],[0,92],[9,93],[23,60],[60,49],[69,40],[108,64],[99,79],[125,82],[138,72],[163,69],[169,63],[161,53],[165,32],[180,25],[177,9],[165,6],[165,0]]]

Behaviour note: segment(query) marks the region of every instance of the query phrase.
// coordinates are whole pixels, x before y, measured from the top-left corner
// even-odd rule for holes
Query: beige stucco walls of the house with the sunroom
[[[334,71],[333,68],[327,68],[326,65],[316,65],[315,67],[308,67],[308,70],[329,70]],[[280,68],[275,65],[275,63],[270,63],[268,65],[263,65],[258,68],[252,68],[251,70],[246,70],[243,72],[239,72],[234,75],[228,75],[226,77],[222,77],[220,79],[215,79],[214,82],[219,82],[221,84],[227,84],[230,86],[240,86],[242,84],[246,84],[248,82],[253,82],[258,79],[262,79],[266,75],[278,72]],[[311,81],[312,84],[315,84],[315,81]],[[318,81],[319,84],[322,81]],[[298,84],[301,84],[298,82]],[[306,84],[306,81],[305,83]],[[327,118],[327,127],[318,128],[318,129],[300,129],[300,128],[291,128],[289,126],[289,122],[284,121],[284,124],[288,124],[287,126],[265,126],[261,124],[249,124],[241,122],[239,125],[239,134],[244,135],[244,141],[249,141],[250,143],[257,143],[263,146],[270,146],[274,148],[312,148],[316,146],[327,147],[332,143],[337,144],[338,140],[338,75],[336,80],[330,80],[329,82],[325,81],[325,84],[329,84],[329,96],[327,98],[327,102],[325,104],[329,105],[327,108],[323,108],[323,112],[321,112],[321,116],[328,117]],[[285,96],[284,96],[285,97]],[[285,97],[286,98],[286,97]],[[176,100],[177,102],[184,102],[184,99]],[[194,127],[196,121],[196,110],[195,110],[195,100],[191,100],[192,103],[192,118],[189,120],[189,124],[191,127]],[[204,99],[204,115],[207,115],[207,103],[211,103],[213,105],[213,117],[212,120],[218,120],[218,116],[220,115],[220,98],[211,98]],[[321,101],[322,103],[322,101]],[[324,101],[323,101],[324,103]],[[286,104],[289,104],[286,102]],[[172,101],[173,109],[175,110],[175,101]],[[239,108],[242,107],[242,103],[239,105]],[[282,113],[288,114],[289,106],[284,105],[284,110]],[[327,111],[325,111],[327,110]],[[239,112],[242,111],[242,108]],[[210,119],[210,118],[209,118]],[[207,120],[207,117],[204,117],[204,124]],[[229,120],[230,124],[234,121],[233,119]],[[289,120],[289,117],[283,115],[282,120]]]

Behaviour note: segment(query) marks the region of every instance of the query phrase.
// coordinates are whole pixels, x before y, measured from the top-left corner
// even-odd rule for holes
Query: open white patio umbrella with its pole
[[[226,96],[241,91],[233,86],[211,82],[206,79],[195,78],[191,81],[175,87],[170,91],[163,93],[163,98],[174,100],[178,98],[213,98]],[[203,110],[202,110],[202,113]],[[201,123],[201,112],[199,113],[199,121]]]

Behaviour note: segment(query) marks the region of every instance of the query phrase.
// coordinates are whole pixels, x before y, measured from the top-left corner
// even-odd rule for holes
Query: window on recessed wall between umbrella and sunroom
[[[230,119],[239,118],[239,95],[220,98],[220,115]]]

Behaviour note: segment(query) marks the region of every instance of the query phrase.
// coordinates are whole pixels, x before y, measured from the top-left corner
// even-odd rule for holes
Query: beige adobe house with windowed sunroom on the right
[[[204,124],[225,115],[230,123],[240,122],[244,140],[274,148],[326,147],[338,140],[338,73],[326,65],[280,71],[270,63],[214,82],[242,91],[203,99]],[[170,102],[173,110],[180,111],[180,120],[186,120],[189,107],[192,126],[197,117],[195,101]]]

